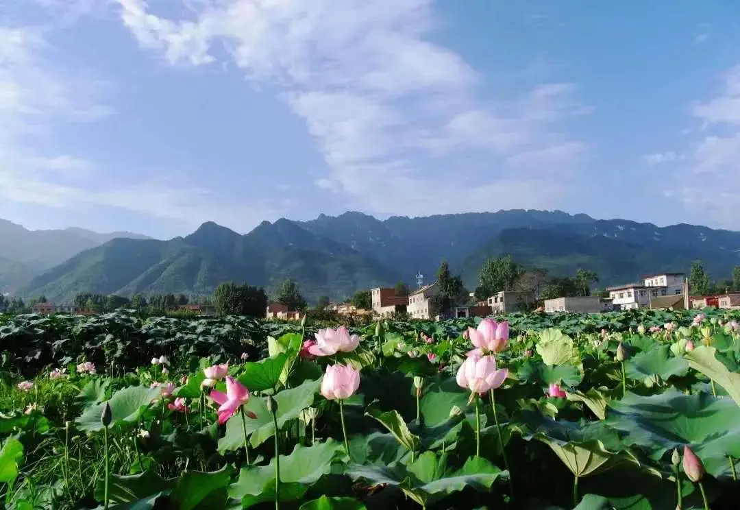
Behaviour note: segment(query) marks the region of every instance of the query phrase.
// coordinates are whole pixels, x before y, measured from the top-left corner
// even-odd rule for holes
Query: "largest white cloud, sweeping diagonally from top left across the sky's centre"
[[[275,89],[329,164],[317,187],[346,193],[353,207],[500,207],[481,189],[508,193],[518,207],[560,205],[566,187],[542,181],[542,166],[568,167],[587,152],[557,129],[588,113],[573,84],[482,100],[479,74],[429,41],[431,0],[221,0],[181,21],[141,0],[118,4],[138,43],[170,64],[209,64],[226,53],[253,86]],[[460,167],[471,151],[491,170],[470,175]],[[410,198],[420,190],[423,201]],[[445,200],[446,193],[465,200]]]

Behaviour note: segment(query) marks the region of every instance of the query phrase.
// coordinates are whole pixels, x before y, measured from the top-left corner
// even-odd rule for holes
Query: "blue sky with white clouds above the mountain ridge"
[[[0,218],[740,229],[732,1],[0,0]]]

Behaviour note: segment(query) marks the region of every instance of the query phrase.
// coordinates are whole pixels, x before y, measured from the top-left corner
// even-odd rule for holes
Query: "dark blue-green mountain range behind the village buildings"
[[[357,289],[414,283],[417,274],[432,281],[443,259],[474,289],[485,259],[507,253],[551,275],[592,269],[600,285],[627,283],[650,272],[688,272],[695,259],[716,278],[729,277],[740,265],[740,232],[522,209],[383,221],[360,212],[312,221],[282,218],[263,221],[246,235],[206,222],[186,237],[167,241],[92,233],[78,234],[76,242],[83,238],[90,246],[70,253],[76,249],[70,245],[70,258],[61,264],[16,273],[16,294],[43,294],[52,301],[78,292],[210,294],[223,281],[275,291],[291,278],[309,301],[322,295],[342,299]],[[0,240],[5,245],[1,231]],[[18,250],[13,253],[15,261],[0,250],[6,264],[22,263]]]

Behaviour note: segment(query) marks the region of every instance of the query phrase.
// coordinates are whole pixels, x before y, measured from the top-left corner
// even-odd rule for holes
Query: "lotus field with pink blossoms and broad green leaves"
[[[0,507],[740,509],[738,321],[0,315]]]

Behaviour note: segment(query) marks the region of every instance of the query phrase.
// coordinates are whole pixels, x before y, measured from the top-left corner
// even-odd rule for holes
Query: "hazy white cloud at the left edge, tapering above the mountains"
[[[112,110],[101,102],[103,82],[54,61],[53,47],[36,27],[0,27],[0,203],[70,209],[118,207],[196,227],[203,218],[249,229],[277,217],[271,204],[216,197],[182,187],[178,179],[111,187],[95,161],[73,154],[39,154],[47,130],[98,121]],[[102,87],[104,90],[104,87]],[[156,175],[156,172],[152,172]]]

